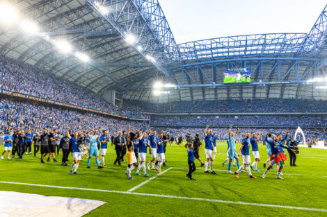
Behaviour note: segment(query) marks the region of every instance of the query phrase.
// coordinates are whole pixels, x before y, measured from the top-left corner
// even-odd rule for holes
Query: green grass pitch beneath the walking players
[[[97,169],[95,159],[92,159],[90,165],[92,168],[88,170],[86,169],[86,160],[84,160],[80,163],[79,175],[69,175],[70,166],[64,167],[60,163],[46,162],[46,164],[40,164],[40,155],[37,157],[24,155],[22,161],[17,158],[1,159],[0,181],[127,191],[149,178],[133,175],[134,181],[127,180],[124,174],[126,163],[123,163],[122,167],[114,166],[115,153],[113,148],[109,147],[107,152],[109,155],[106,156],[107,168]],[[202,146],[200,157],[205,159],[203,148]],[[0,150],[2,152],[3,146],[0,147]],[[167,173],[156,177],[134,192],[327,209],[327,163],[325,160],[327,150],[301,148],[296,162],[298,167],[290,167],[289,161],[287,161],[287,166],[283,171],[285,180],[277,180],[276,171],[269,173],[264,180],[260,177],[262,173],[253,173],[258,177],[255,180],[248,178],[247,173],[241,173],[240,179],[237,180],[234,175],[228,174],[226,171],[218,171],[227,169],[221,165],[226,158],[226,151],[227,145],[225,143],[217,144],[218,154],[214,161],[214,168],[217,170],[216,175],[203,173],[200,163],[196,161],[197,168],[201,169],[193,173],[196,181],[190,181],[185,176],[188,171],[186,149],[184,146],[168,146],[166,152],[167,165],[177,168],[170,169]],[[262,145],[260,145],[260,155],[262,162],[265,161],[267,158],[266,148]],[[56,158],[59,160],[61,156]],[[252,153],[251,159],[253,160]],[[148,160],[150,160],[149,155],[147,155]],[[260,162],[258,169],[264,171],[262,162]],[[162,171],[164,170],[166,168],[163,167]],[[234,171],[235,167],[232,170]],[[133,173],[135,171],[136,169]],[[148,173],[151,175],[150,177],[157,175],[155,171],[148,171]],[[321,211],[53,189],[41,186],[0,184],[0,188],[1,191],[19,191],[45,196],[86,198],[107,202],[86,216],[327,216],[326,212]],[[127,207],[129,208],[127,209]]]

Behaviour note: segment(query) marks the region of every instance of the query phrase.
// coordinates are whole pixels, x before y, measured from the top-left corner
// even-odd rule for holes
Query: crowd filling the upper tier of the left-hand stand
[[[44,71],[38,71],[26,64],[19,64],[15,60],[0,57],[0,72],[1,88],[11,92],[29,94],[111,114],[130,117],[143,116],[140,112],[134,112],[135,108],[127,113],[86,88],[51,77]]]

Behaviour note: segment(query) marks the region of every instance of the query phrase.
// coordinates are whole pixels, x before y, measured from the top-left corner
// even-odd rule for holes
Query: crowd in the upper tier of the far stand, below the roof
[[[327,101],[312,99],[224,99],[218,101],[181,101],[168,103],[146,103],[125,101],[124,107],[143,108],[143,112],[157,113],[229,113],[229,112],[326,112]]]

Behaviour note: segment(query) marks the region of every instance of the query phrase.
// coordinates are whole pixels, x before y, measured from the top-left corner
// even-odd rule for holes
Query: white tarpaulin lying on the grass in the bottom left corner
[[[105,203],[98,200],[47,197],[31,193],[0,191],[0,217],[83,216]]]

